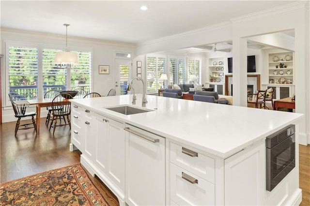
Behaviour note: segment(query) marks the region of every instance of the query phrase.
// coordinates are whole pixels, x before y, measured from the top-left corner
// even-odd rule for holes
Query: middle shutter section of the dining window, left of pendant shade
[[[56,52],[58,51],[62,50],[42,50],[43,96],[47,91],[52,89],[67,90],[67,69],[57,67],[54,62]]]

